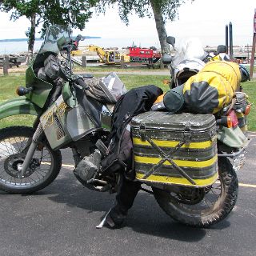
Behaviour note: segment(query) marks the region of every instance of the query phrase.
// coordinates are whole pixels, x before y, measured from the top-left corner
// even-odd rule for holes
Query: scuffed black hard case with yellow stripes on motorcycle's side
[[[146,112],[131,122],[136,178],[179,186],[210,186],[218,178],[213,114]]]

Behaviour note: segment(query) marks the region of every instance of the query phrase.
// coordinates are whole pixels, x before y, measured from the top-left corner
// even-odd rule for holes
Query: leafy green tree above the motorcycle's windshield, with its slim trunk
[[[0,0],[0,10],[11,12],[10,20],[16,21],[22,16],[30,20],[30,27],[26,31],[30,55],[34,51],[35,32],[40,23],[42,23],[42,35],[50,24],[68,26],[69,10],[72,10],[76,21],[71,26],[82,30],[85,22],[91,17],[90,7],[94,6],[94,2],[94,0]]]

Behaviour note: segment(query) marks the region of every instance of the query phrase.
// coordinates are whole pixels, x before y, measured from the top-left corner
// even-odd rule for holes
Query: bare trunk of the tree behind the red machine
[[[158,38],[161,46],[161,52],[162,54],[170,53],[170,46],[166,42],[167,34],[166,34],[165,22],[162,17],[161,7],[158,5],[158,0],[150,0],[150,5],[152,6],[152,10],[154,13],[154,20],[155,20],[155,25],[158,31]]]

